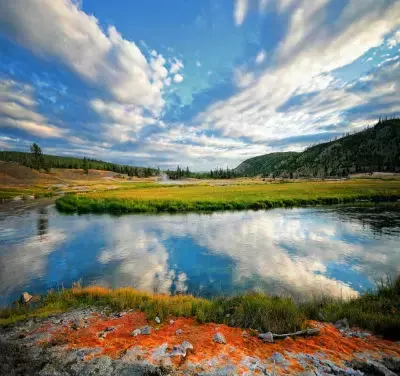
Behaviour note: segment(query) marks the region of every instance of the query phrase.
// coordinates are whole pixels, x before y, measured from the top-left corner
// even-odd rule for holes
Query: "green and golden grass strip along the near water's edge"
[[[352,326],[400,338],[400,278],[386,281],[373,293],[348,301],[330,298],[296,303],[291,298],[248,294],[214,299],[190,295],[151,295],[131,288],[73,287],[42,297],[39,306],[16,306],[0,311],[0,324],[28,317],[46,317],[78,307],[110,307],[112,311],[138,309],[149,319],[159,316],[194,317],[199,322],[224,323],[274,333],[287,333],[306,326],[306,320],[336,321],[347,317]]]

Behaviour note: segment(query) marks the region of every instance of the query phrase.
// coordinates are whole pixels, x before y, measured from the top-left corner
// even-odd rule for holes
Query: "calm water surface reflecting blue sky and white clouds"
[[[400,272],[400,211],[276,209],[186,215],[0,214],[0,305],[84,284],[201,296],[347,296]]]

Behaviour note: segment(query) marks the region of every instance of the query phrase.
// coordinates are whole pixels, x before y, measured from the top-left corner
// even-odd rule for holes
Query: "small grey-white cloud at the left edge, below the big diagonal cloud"
[[[0,81],[0,128],[15,128],[38,137],[62,137],[65,131],[36,111],[34,90],[13,80]]]

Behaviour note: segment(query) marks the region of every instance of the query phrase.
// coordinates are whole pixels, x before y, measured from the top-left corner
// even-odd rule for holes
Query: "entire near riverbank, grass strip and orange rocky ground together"
[[[30,313],[20,307],[14,318],[24,320],[12,325],[9,320],[0,329],[0,373],[394,375],[400,344],[358,328],[355,312],[372,318],[373,306],[379,306],[383,321],[395,317],[388,303],[395,304],[393,294],[398,299],[393,290],[398,285],[342,302],[340,310],[328,308],[333,304],[328,301],[300,308],[289,299],[263,295],[209,301],[75,287],[47,295]],[[335,325],[328,322],[335,315],[325,322],[307,320],[311,307],[319,320],[333,312],[342,320]],[[2,317],[4,324],[4,311]],[[312,328],[313,335],[280,339],[269,333],[296,326]]]

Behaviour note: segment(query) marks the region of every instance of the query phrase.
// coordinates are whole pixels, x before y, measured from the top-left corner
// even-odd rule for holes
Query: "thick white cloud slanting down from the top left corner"
[[[158,114],[164,105],[165,59],[152,52],[147,61],[139,47],[115,27],[107,32],[94,16],[69,0],[4,0],[0,22],[11,37],[36,54],[56,57],[82,78],[104,87],[116,101]]]

